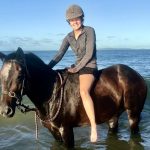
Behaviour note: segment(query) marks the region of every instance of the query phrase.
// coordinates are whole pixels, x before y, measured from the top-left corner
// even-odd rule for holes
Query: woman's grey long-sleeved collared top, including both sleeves
[[[64,56],[69,46],[76,55],[75,69],[78,72],[83,67],[97,68],[96,64],[96,36],[92,27],[84,26],[83,30],[75,39],[74,32],[68,33],[56,56],[50,61],[49,66],[53,68]]]

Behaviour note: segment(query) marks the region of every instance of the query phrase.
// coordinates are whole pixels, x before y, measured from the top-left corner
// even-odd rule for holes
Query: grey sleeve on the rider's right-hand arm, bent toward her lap
[[[81,61],[75,66],[76,72],[82,69],[92,59],[93,53],[96,50],[96,36],[93,28],[86,32],[86,53]]]

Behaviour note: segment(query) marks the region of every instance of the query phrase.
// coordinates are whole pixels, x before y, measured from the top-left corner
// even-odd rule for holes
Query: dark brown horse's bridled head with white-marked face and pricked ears
[[[9,55],[0,52],[0,59],[3,61],[0,70],[0,114],[5,117],[12,117],[16,106],[22,99],[25,56],[22,49],[18,48],[16,52]]]

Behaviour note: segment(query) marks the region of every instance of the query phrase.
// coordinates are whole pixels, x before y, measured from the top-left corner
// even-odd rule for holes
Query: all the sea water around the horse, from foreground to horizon
[[[10,53],[10,52],[4,52]],[[33,51],[45,63],[48,63],[56,51]],[[68,51],[54,69],[65,68],[75,61],[74,54]],[[114,64],[126,64],[139,72],[150,88],[150,50],[101,50],[97,52],[98,68],[102,69]],[[0,66],[2,62],[0,62]],[[29,103],[25,96],[24,103]],[[116,135],[108,134],[108,126],[98,125],[99,140],[96,144],[89,141],[90,128],[74,129],[76,150],[149,150],[150,149],[150,90],[141,115],[141,136],[130,137],[130,129],[126,113],[120,117],[119,131]],[[35,139],[34,113],[22,114],[17,111],[13,118],[0,116],[0,150],[65,150],[57,143],[51,133],[40,122],[38,141]]]

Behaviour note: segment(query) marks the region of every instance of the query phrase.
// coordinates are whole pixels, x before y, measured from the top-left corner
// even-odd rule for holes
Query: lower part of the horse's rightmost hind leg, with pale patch
[[[135,112],[131,109],[127,109],[127,115],[129,119],[131,133],[136,134],[139,132],[139,121],[140,121],[140,112]]]

